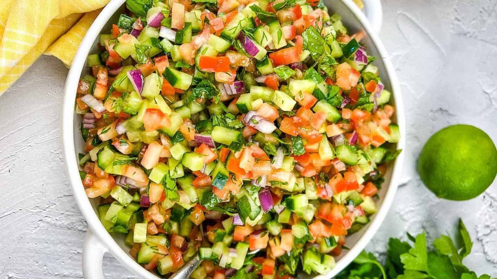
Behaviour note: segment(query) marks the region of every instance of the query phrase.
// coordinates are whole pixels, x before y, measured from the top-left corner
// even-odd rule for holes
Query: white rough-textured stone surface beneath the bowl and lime
[[[404,176],[367,250],[384,256],[389,237],[453,233],[462,217],[474,241],[465,264],[497,276],[497,183],[466,202],[438,200],[415,161],[435,131],[472,124],[497,141],[497,0],[382,0],[383,39],[399,76],[407,119]],[[0,279],[82,278],[87,224],[65,172],[60,142],[68,70],[41,57],[0,97]],[[454,139],[457,140],[457,139]],[[135,278],[111,256],[109,279]]]

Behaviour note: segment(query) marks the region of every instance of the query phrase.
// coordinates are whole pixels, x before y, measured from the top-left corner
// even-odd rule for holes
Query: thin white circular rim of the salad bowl
[[[78,86],[79,79],[86,61],[86,57],[89,51],[100,34],[102,28],[107,23],[109,18],[117,11],[126,0],[111,0],[96,17],[93,24],[89,27],[83,40],[81,42],[78,51],[74,57],[72,67],[69,70],[66,84],[64,87],[64,103],[62,111],[62,143],[64,149],[64,159],[69,175],[69,181],[71,187],[73,188],[74,198],[76,203],[81,210],[86,222],[88,223],[88,228],[95,234],[97,239],[101,244],[110,252],[118,261],[120,261],[126,268],[133,271],[136,275],[145,279],[158,279],[151,272],[144,269],[136,261],[134,261],[127,252],[125,252],[117,242],[112,238],[112,236],[105,230],[102,223],[98,219],[95,211],[89,199],[84,191],[83,183],[80,178],[78,162],[75,154],[75,144],[74,144],[74,100],[76,97],[76,89]],[[367,21],[361,10],[351,1],[351,0],[341,0],[348,9],[352,11],[355,19],[358,20],[364,27],[366,34],[370,37],[372,43],[375,45],[376,49],[380,54],[380,59],[382,60],[386,75],[390,81],[392,92],[394,94],[395,107],[396,107],[396,117],[397,124],[399,125],[401,139],[397,143],[397,149],[403,149],[405,145],[405,119],[404,119],[404,107],[402,103],[401,90],[399,86],[399,81],[394,71],[394,67],[388,58],[387,51],[383,44],[381,43],[378,35],[373,31],[369,22]],[[367,245],[371,238],[375,235],[376,231],[383,223],[385,216],[390,209],[395,193],[400,182],[400,172],[402,170],[404,152],[397,157],[393,167],[392,175],[390,179],[390,184],[388,185],[388,190],[385,194],[382,205],[379,207],[378,211],[375,213],[375,217],[369,224],[368,228],[364,234],[359,238],[359,240],[354,244],[354,246],[340,259],[337,261],[336,266],[332,269],[329,274],[318,275],[314,277],[315,279],[329,279],[335,276],[339,271],[343,270]]]

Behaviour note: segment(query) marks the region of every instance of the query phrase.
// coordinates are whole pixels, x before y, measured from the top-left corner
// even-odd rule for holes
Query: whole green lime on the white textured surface
[[[417,172],[424,185],[439,198],[473,199],[494,181],[496,146],[485,132],[474,126],[449,126],[424,144]]]

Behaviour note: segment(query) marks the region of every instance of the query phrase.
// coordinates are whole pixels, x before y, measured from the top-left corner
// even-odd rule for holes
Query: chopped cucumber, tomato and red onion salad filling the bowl
[[[76,99],[103,226],[165,277],[330,272],[400,152],[364,36],[319,0],[127,0]]]

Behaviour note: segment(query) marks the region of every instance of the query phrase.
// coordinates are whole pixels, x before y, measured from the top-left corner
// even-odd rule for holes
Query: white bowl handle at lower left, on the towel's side
[[[107,252],[100,240],[88,229],[83,243],[83,278],[105,279],[103,254]]]

